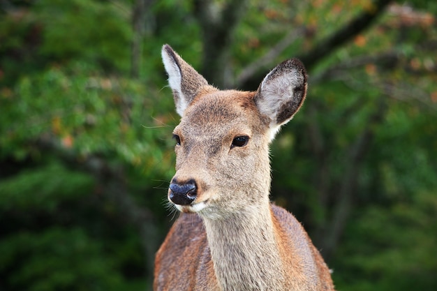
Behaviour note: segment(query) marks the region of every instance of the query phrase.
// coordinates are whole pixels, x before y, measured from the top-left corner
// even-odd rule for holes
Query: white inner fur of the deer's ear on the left
[[[177,65],[175,59],[173,59],[165,50],[162,50],[161,56],[163,58],[163,63],[165,70],[168,75],[168,84],[170,88],[177,93],[179,98],[175,98],[176,102],[176,112],[181,117],[184,115],[184,111],[188,106],[186,103],[186,98],[182,94],[182,74],[179,66]]]

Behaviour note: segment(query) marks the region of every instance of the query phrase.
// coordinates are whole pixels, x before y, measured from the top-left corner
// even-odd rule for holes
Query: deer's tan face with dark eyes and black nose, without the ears
[[[268,123],[253,96],[213,91],[185,110],[173,131],[177,172],[168,193],[179,210],[219,218],[268,200]]]

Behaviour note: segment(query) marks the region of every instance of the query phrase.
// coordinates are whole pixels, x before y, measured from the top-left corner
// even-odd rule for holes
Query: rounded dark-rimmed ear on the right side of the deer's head
[[[262,80],[255,104],[261,114],[269,117],[272,139],[304,103],[306,86],[306,70],[298,59],[284,61]]]

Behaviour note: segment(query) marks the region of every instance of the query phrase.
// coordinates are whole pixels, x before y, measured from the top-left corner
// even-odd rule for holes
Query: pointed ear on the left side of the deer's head
[[[176,112],[182,117],[186,107],[198,94],[202,87],[209,86],[207,80],[192,66],[188,65],[170,45],[163,45],[161,51],[168,84],[175,98]]]

